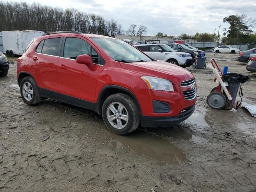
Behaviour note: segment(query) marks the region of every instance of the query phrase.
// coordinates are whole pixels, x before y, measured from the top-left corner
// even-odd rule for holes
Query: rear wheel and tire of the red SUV
[[[24,87],[24,84],[25,84],[25,87]],[[26,90],[28,90],[29,94]],[[32,90],[32,92],[29,90]],[[26,93],[27,93],[27,96],[26,96]],[[34,106],[41,102],[38,86],[36,85],[35,80],[31,76],[26,76],[22,79],[20,83],[20,94],[23,101],[29,106]]]

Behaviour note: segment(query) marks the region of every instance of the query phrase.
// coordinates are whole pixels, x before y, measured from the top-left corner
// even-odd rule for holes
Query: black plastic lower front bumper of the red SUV
[[[195,110],[195,105],[190,106],[174,117],[153,117],[153,116],[140,116],[140,123],[142,127],[167,127],[174,126],[184,120],[186,120]]]

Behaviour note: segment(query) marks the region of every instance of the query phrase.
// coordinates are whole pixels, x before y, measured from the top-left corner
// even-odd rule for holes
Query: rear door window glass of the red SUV
[[[45,39],[42,54],[58,56],[60,38]]]

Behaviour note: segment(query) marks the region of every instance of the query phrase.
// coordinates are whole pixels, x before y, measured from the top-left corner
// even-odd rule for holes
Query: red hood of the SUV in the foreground
[[[180,52],[179,52],[180,53]],[[180,85],[182,81],[194,78],[188,70],[164,61],[122,63],[122,68],[146,76],[170,80],[172,84]]]

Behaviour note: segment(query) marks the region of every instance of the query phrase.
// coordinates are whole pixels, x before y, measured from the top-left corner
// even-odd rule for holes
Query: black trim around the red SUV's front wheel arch
[[[130,95],[137,105],[137,109],[138,109],[140,116],[142,115],[140,103],[138,102],[138,99],[136,98],[136,96],[129,89],[124,88],[122,86],[118,86],[118,85],[106,85],[100,90],[100,93],[98,95],[98,99],[97,99],[97,102],[95,103],[95,108],[94,108],[94,111],[96,113],[102,114],[101,109],[102,109],[102,105],[103,105],[104,101],[101,101],[101,98],[102,98],[104,92],[110,88],[120,89],[120,90],[126,92],[128,95]]]

